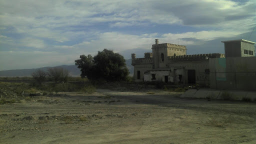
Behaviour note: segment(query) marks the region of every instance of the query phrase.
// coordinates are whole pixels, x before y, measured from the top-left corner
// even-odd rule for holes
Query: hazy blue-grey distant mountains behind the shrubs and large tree
[[[125,63],[127,68],[129,69],[130,75],[133,75],[133,66],[131,65],[131,59],[125,59]],[[13,69],[13,70],[2,70],[0,71],[0,77],[23,77],[23,76],[31,76],[31,73],[36,69],[42,69],[47,71],[47,67],[40,67],[40,68],[32,68],[32,69]],[[77,68],[76,65],[59,65],[54,67],[62,67],[69,71],[69,74],[73,77],[80,76],[80,69]]]

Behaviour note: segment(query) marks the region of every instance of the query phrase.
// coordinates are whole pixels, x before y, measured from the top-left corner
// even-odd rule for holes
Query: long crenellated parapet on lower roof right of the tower
[[[209,58],[218,58],[218,57],[225,57],[225,54],[222,54],[222,53],[208,53],[208,54],[168,56],[168,62],[208,60]]]

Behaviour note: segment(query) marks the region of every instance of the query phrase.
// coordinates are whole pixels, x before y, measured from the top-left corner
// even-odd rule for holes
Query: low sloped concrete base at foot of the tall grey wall
[[[238,91],[238,90],[215,90],[215,89],[188,89],[180,97],[186,98],[209,98],[226,100],[256,100],[256,91]]]

